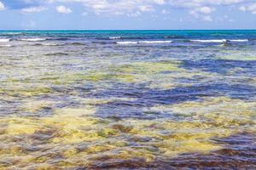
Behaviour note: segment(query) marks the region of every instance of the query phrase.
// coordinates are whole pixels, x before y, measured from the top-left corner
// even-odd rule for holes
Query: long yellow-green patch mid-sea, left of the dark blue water
[[[56,84],[62,82],[75,81],[90,81],[99,82],[106,80],[114,80],[118,82],[142,82],[145,79],[145,74],[151,76],[162,71],[183,71],[178,68],[180,62],[177,61],[162,61],[162,62],[137,62],[129,65],[111,65],[107,68],[102,68],[101,71],[88,71],[84,73],[77,73],[73,75],[66,75],[65,77],[54,80]]]

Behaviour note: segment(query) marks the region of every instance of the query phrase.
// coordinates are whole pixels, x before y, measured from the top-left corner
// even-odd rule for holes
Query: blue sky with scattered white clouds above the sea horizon
[[[0,0],[0,30],[256,29],[256,0]]]

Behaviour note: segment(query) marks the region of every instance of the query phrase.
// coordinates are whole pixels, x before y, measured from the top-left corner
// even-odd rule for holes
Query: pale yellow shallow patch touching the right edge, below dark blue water
[[[255,109],[255,102],[226,97],[206,98],[203,102],[185,102],[172,106],[176,114],[200,116],[225,127],[255,123]]]

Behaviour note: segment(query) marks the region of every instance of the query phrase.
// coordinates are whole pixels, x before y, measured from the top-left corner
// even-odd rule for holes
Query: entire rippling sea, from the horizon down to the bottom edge
[[[0,169],[255,169],[256,31],[0,31]]]

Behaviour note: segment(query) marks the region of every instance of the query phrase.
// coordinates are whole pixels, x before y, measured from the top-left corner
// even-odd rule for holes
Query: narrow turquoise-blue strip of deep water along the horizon
[[[204,30],[204,31],[0,31],[1,36],[15,37],[38,36],[38,37],[88,37],[88,38],[108,38],[122,37],[131,39],[188,39],[188,38],[247,38],[256,37],[255,30]]]

